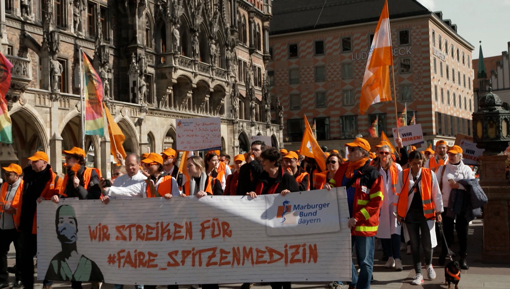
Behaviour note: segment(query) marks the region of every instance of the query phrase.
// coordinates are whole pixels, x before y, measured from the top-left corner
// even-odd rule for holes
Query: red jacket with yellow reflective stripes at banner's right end
[[[333,178],[337,187],[342,185],[348,165],[349,162],[347,161],[338,168]],[[354,174],[354,177],[357,174],[361,174],[361,176],[352,185],[355,188],[352,217],[358,220],[358,222],[351,229],[351,235],[362,237],[375,236],[379,226],[379,210],[384,198],[382,193],[384,180],[375,167],[370,166],[370,161],[367,161],[359,173]]]

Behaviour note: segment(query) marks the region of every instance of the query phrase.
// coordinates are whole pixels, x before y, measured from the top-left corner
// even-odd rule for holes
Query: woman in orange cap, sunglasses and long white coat
[[[388,261],[384,267],[402,271],[402,261],[400,260],[400,225],[393,214],[395,187],[398,176],[402,173],[402,167],[393,161],[391,148],[386,142],[382,141],[376,147],[378,148],[378,157],[374,159],[372,165],[377,168],[382,176],[384,199],[382,199],[379,227],[375,236],[381,240],[382,248],[388,254]]]

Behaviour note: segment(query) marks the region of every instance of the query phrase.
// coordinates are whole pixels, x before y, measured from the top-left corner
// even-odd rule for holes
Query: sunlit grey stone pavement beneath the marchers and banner
[[[465,270],[461,275],[461,282],[459,288],[461,289],[478,289],[478,288],[510,288],[510,265],[501,264],[486,264],[481,262],[482,252],[482,234],[483,234],[483,221],[475,220],[473,224],[469,226],[469,249],[468,249],[468,264],[469,270]],[[453,251],[456,252],[456,245],[452,246]],[[437,272],[436,280],[425,280],[422,285],[423,288],[447,288],[444,285],[444,269],[437,265],[437,258],[439,251],[434,253],[434,260],[432,262],[435,265]],[[404,270],[396,272],[393,269],[385,269],[383,267],[384,261],[380,260],[382,252],[375,252],[374,262],[374,281],[371,284],[371,288],[374,289],[406,289],[406,288],[417,288],[413,286],[410,281],[414,277],[414,270],[412,268],[411,256],[402,253],[402,263]],[[9,266],[14,264],[14,247],[11,246],[11,250],[8,255]],[[354,260],[355,263],[355,260]],[[14,281],[14,276],[10,275],[10,282]],[[327,283],[330,280],[324,282],[308,282],[308,283],[293,283],[293,288],[300,289],[315,289],[315,288],[327,288]],[[41,289],[41,281],[37,281],[35,289]],[[241,284],[221,284],[220,288],[226,289],[239,289]],[[90,289],[89,283],[83,284],[84,289]],[[70,289],[69,282],[54,282],[53,288],[55,289]],[[103,284],[102,289],[112,289],[112,284]],[[126,288],[133,288],[132,286],[126,286]],[[166,288],[166,286],[158,286],[158,288]],[[182,285],[180,289],[189,289],[189,286]],[[270,289],[269,284],[256,283],[252,289]]]

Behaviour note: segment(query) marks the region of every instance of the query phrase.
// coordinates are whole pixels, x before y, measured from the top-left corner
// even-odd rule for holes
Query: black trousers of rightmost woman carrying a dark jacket
[[[459,253],[466,253],[468,249],[468,227],[469,222],[466,220],[466,216],[464,213],[457,214],[455,219],[446,216],[446,212],[448,209],[445,209],[441,215],[443,216],[443,232],[445,233],[446,242],[448,242],[448,246],[451,246],[453,243],[453,226],[455,226],[455,231],[457,231],[458,238],[458,249]],[[446,244],[442,244],[441,253],[446,255],[448,253],[448,248],[446,248]],[[443,253],[444,252],[444,253]]]

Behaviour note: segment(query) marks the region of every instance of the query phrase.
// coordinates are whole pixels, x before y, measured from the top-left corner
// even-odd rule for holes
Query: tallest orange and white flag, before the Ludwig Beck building
[[[368,107],[384,101],[391,101],[390,69],[393,65],[391,54],[390,18],[388,1],[382,8],[374,40],[370,46],[367,68],[363,77],[360,97],[360,113],[365,114]]]

